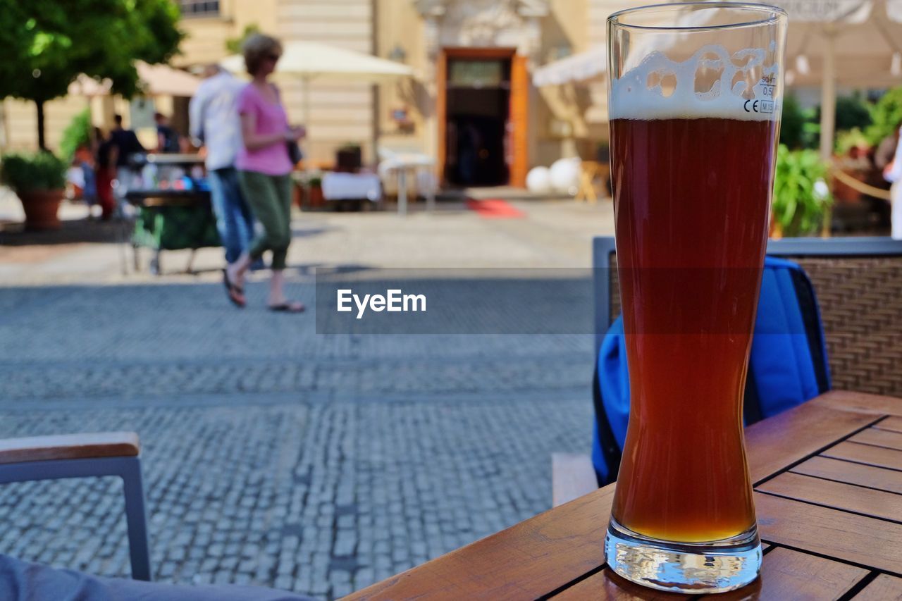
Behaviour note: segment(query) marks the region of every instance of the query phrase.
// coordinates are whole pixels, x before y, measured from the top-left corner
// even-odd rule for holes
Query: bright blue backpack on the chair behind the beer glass
[[[745,385],[745,423],[776,415],[828,390],[830,369],[815,289],[798,264],[766,257]],[[592,463],[602,486],[617,479],[630,419],[622,317],[604,336],[593,393]]]

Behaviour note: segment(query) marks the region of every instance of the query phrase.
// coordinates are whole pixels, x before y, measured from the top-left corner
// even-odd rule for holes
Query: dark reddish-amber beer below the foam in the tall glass
[[[613,516],[633,532],[717,541],[755,523],[741,407],[776,140],[775,121],[611,122],[631,393]]]

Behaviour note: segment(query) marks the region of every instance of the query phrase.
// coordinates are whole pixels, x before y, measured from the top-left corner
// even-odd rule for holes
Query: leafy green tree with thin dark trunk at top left
[[[79,73],[110,79],[113,92],[140,91],[135,60],[160,63],[178,51],[179,8],[172,0],[0,0],[0,99],[37,107],[38,145],[44,103],[65,96]],[[12,25],[14,23],[14,25]]]

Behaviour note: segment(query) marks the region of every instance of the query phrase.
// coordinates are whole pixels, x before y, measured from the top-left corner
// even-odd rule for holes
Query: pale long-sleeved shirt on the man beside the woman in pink
[[[207,169],[235,166],[241,147],[241,120],[236,106],[244,82],[228,71],[220,71],[200,82],[189,105],[191,137],[203,137],[207,146]]]

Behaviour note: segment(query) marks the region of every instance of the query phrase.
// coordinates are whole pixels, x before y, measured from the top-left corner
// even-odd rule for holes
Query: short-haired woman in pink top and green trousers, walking
[[[281,43],[256,33],[244,42],[244,63],[253,80],[238,96],[243,144],[235,166],[238,181],[260,221],[250,248],[224,273],[229,299],[244,307],[244,273],[254,259],[272,251],[272,278],[268,306],[270,310],[298,313],[304,305],[288,301],[284,291],[285,257],[291,242],[291,177],[294,168],[289,144],[305,134],[303,126],[290,126],[281,104],[279,88],[267,81],[281,57]]]

